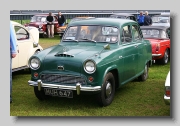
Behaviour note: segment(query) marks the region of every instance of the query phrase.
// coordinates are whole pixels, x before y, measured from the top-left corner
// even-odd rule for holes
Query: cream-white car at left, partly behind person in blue
[[[29,68],[29,58],[42,51],[43,48],[38,44],[39,31],[36,27],[24,27],[20,23],[11,21],[16,35],[17,55],[12,58],[12,72]]]

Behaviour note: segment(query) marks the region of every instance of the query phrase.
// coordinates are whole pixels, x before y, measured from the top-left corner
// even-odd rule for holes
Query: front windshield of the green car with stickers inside
[[[107,26],[73,26],[69,27],[62,41],[76,42],[110,42],[118,41],[119,30],[116,27]]]

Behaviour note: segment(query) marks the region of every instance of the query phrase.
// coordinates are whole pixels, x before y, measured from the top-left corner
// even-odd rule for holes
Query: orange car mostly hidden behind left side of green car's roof
[[[72,22],[74,22],[74,21],[84,20],[84,19],[91,19],[91,18],[95,18],[95,17],[75,17],[75,18],[72,18],[69,23],[72,23]],[[65,32],[65,30],[66,30],[66,28],[67,28],[67,26],[68,26],[69,23],[67,23],[66,25],[61,26],[61,27],[59,28],[59,30],[60,30],[60,36],[63,36],[63,34],[64,34],[64,32]]]

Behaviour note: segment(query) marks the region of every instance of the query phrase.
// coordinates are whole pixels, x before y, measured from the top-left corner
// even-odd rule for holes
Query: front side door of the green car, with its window
[[[137,44],[133,42],[131,26],[128,24],[121,28],[121,42],[123,46],[122,58],[124,59],[122,81],[125,83],[135,76],[138,65]]]

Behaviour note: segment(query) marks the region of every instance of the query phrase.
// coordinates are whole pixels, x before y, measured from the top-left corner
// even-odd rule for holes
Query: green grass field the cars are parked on
[[[41,38],[43,48],[59,43],[55,38]],[[73,99],[52,97],[39,101],[27,83],[29,71],[13,73],[13,103],[11,116],[170,116],[170,106],[163,101],[164,83],[170,62],[167,65],[153,64],[145,82],[136,80],[116,91],[114,100],[107,107],[99,107],[91,95],[75,96]]]

